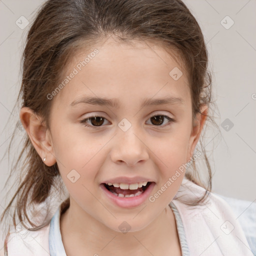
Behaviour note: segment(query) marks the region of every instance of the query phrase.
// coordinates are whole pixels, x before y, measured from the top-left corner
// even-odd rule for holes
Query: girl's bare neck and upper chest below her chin
[[[161,251],[162,255],[181,255],[175,218],[169,205],[145,228],[123,233],[108,228],[70,198],[69,207],[60,216],[60,231],[67,256],[85,252],[91,255],[111,253],[112,256],[133,252],[157,255]]]

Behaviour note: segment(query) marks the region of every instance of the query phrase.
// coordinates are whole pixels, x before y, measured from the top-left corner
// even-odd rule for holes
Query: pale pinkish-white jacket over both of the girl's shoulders
[[[182,256],[252,256],[238,220],[222,198],[210,193],[207,202],[196,206],[181,201],[198,199],[204,192],[202,187],[183,179],[169,204],[175,216]],[[66,256],[59,229],[61,206],[63,208],[62,204],[58,207],[50,224],[41,230],[26,231],[24,235],[12,233],[8,239],[8,255],[44,256],[50,253],[51,256]]]

